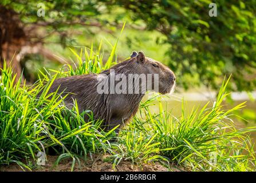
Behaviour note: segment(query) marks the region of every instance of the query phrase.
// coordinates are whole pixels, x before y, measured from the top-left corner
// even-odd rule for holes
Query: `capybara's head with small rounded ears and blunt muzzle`
[[[136,69],[140,73],[152,74],[152,81],[149,81],[149,85],[152,85],[152,90],[162,94],[171,93],[175,87],[175,74],[163,63],[155,61],[152,58],[145,57],[142,51],[136,53],[133,51],[132,58],[136,59]],[[150,78],[150,77],[149,77]],[[154,88],[154,82],[158,82],[158,89]],[[147,79],[148,82],[148,79]],[[152,83],[150,83],[152,82]]]

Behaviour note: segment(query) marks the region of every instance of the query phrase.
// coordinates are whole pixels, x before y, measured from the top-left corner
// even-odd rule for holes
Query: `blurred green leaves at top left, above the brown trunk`
[[[4,0],[0,5],[17,13],[22,23],[26,25],[37,25],[44,27],[45,35],[56,33],[58,42],[62,45],[69,45],[74,42],[73,38],[67,37],[70,25],[73,27],[90,26],[93,19],[100,14],[96,2],[90,1],[24,1]],[[45,10],[45,16],[38,16],[41,9]],[[82,24],[82,25],[81,25]],[[47,37],[46,36],[46,37]],[[34,39],[38,37],[34,37]],[[40,38],[39,38],[40,39]]]

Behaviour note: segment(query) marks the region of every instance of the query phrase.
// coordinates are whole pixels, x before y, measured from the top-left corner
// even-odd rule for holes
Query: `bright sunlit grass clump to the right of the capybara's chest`
[[[145,160],[144,150],[151,152],[147,160],[164,160],[187,170],[254,171],[255,152],[249,133],[256,129],[237,129],[231,120],[245,102],[223,109],[223,100],[229,95],[225,92],[229,79],[223,82],[212,105],[208,102],[200,110],[197,106],[190,114],[182,105],[179,118],[163,110],[162,102],[159,113],[151,113],[152,102],[160,96],[141,103],[140,112],[120,136],[127,159]]]

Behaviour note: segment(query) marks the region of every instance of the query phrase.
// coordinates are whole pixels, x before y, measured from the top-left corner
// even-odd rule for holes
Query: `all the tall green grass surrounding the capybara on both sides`
[[[117,40],[118,41],[118,40]],[[107,62],[101,44],[95,50],[75,47],[70,49],[73,65],[60,70],[41,72],[40,80],[33,85],[14,82],[11,67],[3,66],[0,79],[0,165],[15,162],[22,168],[31,166],[24,159],[37,160],[38,152],[56,151],[59,158],[72,158],[80,164],[81,158],[90,153],[110,154],[113,166],[122,160],[133,164],[159,161],[164,166],[173,164],[193,171],[253,171],[255,153],[249,136],[255,128],[237,129],[231,116],[245,103],[224,110],[222,103],[229,82],[223,81],[216,101],[201,110],[196,106],[189,114],[182,106],[182,116],[174,117],[163,109],[162,96],[155,95],[141,102],[140,110],[119,136],[100,129],[101,121],[84,121],[78,113],[76,101],[73,109],[64,105],[64,98],[57,93],[48,94],[56,77],[99,73],[117,63],[116,45],[112,46]],[[45,83],[47,83],[45,85]],[[37,97],[41,92],[41,97]],[[159,113],[152,113],[150,106],[159,100]],[[113,141],[116,140],[116,141]]]

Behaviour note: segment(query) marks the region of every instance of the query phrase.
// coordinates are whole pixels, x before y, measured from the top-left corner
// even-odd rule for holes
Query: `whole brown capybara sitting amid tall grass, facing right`
[[[100,74],[76,75],[56,79],[50,87],[50,92],[58,89],[58,93],[61,93],[62,96],[69,93],[65,98],[67,106],[72,105],[76,99],[80,112],[83,110],[92,111],[94,119],[103,120],[103,126],[108,131],[116,125],[122,126],[136,114],[145,92],[141,89],[143,81],[139,82],[139,85],[131,86],[132,93],[131,90],[128,92],[128,85],[127,87],[125,85],[118,87],[122,89],[121,93],[117,90],[112,91],[113,86],[117,87],[118,82],[115,81],[111,85],[112,80],[110,78],[113,75],[111,71],[115,71],[115,75],[121,74],[126,77],[124,81],[127,81],[128,84],[135,83],[135,79],[131,80],[128,75],[157,74],[157,78],[152,77],[152,81],[147,79],[144,83],[147,83],[147,86],[152,85],[152,82],[157,79],[159,83],[157,92],[162,94],[170,93],[175,85],[175,75],[168,67],[151,58],[146,58],[142,52],[139,54],[134,52],[131,59],[121,62],[111,69],[104,70]],[[107,83],[109,87],[105,87],[104,83]],[[153,86],[151,87],[151,90],[155,90]],[[116,130],[116,132],[118,131],[119,129]]]

